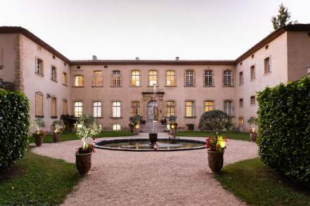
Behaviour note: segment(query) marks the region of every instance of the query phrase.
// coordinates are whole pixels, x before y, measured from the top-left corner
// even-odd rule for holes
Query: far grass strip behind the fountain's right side
[[[197,136],[197,137],[208,137],[214,136],[212,132],[209,131],[178,131],[177,136]],[[241,131],[227,131],[221,133],[222,136],[228,139],[239,139],[244,141],[251,141],[249,138],[249,133]]]

